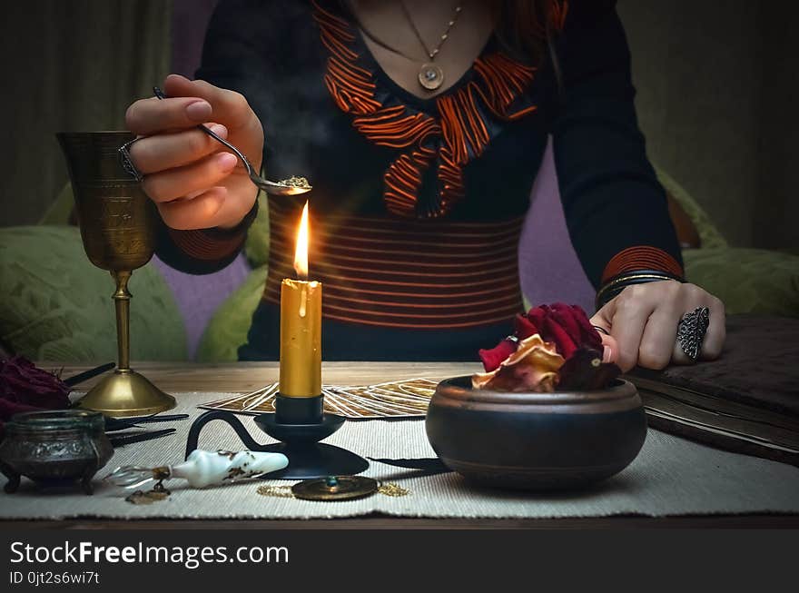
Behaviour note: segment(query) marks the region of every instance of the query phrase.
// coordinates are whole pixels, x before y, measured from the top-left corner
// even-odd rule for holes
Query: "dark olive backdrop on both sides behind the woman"
[[[120,128],[126,106],[165,74],[192,74],[214,2],[4,5],[0,224],[38,222],[66,183],[55,132]],[[650,158],[733,244],[799,252],[795,4],[620,0],[618,9]]]

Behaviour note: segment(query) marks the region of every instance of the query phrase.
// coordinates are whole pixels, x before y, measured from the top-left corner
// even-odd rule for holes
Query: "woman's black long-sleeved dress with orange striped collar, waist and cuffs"
[[[335,0],[222,0],[197,76],[247,97],[271,178],[302,174],[314,186],[311,278],[323,283],[327,360],[474,360],[508,334],[523,306],[518,236],[548,134],[588,278],[682,275],[613,4],[556,3],[562,86],[551,59],[524,64],[492,38],[425,100],[380,69]],[[269,277],[242,360],[279,357],[280,282],[294,273],[303,203],[270,199]],[[164,231],[159,254],[210,272],[241,242],[241,232]]]

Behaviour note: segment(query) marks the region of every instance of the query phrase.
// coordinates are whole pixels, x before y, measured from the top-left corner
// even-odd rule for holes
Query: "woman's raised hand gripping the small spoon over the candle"
[[[173,229],[232,228],[258,195],[235,154],[197,129],[205,124],[261,168],[263,130],[238,93],[178,74],[163,84],[167,99],[140,99],[125,114],[142,139],[130,147],[144,192]]]

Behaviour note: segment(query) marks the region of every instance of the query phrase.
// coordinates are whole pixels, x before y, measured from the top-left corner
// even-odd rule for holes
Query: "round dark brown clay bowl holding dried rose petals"
[[[474,390],[470,377],[441,381],[426,428],[439,458],[471,482],[500,488],[586,487],[617,474],[646,438],[635,386],[509,393]]]

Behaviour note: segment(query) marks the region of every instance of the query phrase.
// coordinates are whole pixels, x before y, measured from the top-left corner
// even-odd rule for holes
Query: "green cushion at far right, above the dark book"
[[[686,279],[724,301],[728,314],[799,317],[799,256],[762,249],[683,252]]]

